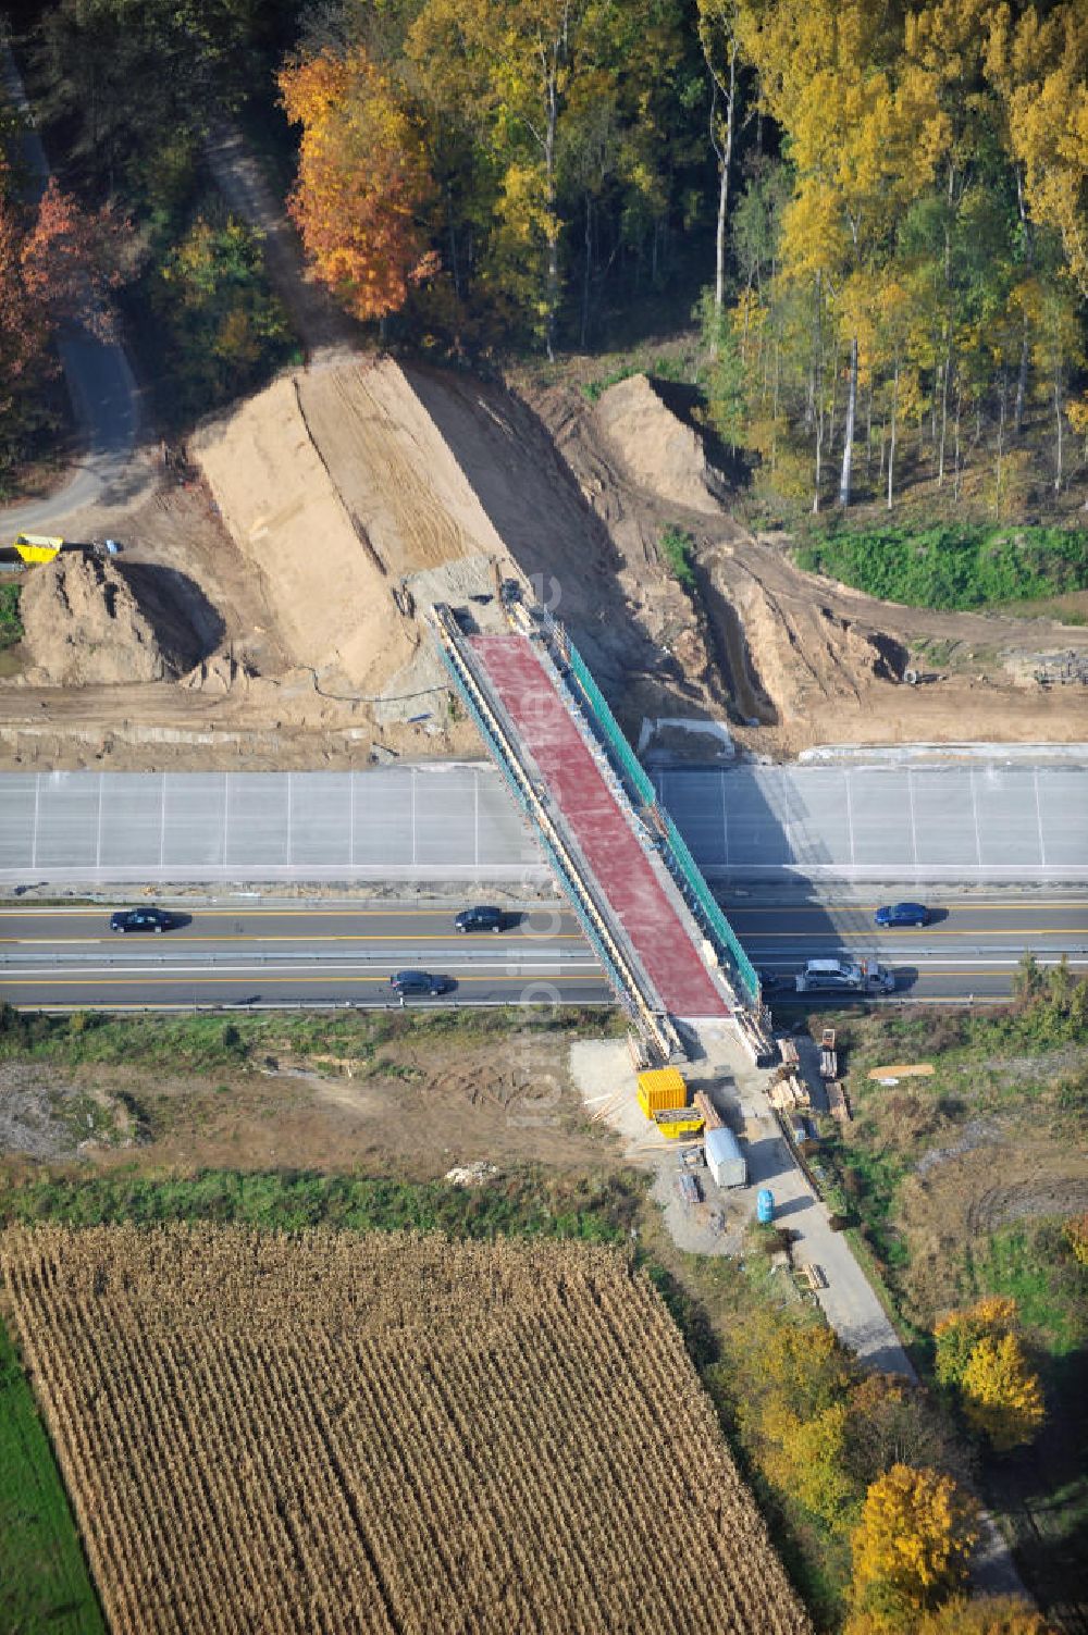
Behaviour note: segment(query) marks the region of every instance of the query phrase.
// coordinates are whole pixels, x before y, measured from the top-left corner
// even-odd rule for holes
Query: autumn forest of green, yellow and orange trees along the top
[[[15,26],[190,409],[290,352],[201,170],[239,113],[383,340],[479,365],[695,324],[708,422],[797,510],[923,477],[1060,513],[1083,476],[1080,0],[57,0]],[[43,229],[0,188],[10,376]]]

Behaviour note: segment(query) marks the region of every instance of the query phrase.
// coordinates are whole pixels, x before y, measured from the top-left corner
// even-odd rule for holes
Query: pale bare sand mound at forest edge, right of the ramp
[[[686,510],[720,512],[725,477],[707,459],[699,433],[672,414],[645,374],[610,386],[596,417],[640,487]]]

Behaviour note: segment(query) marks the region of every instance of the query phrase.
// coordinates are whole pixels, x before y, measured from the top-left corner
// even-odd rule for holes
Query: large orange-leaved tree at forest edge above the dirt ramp
[[[396,85],[353,46],[285,69],[280,93],[303,126],[288,209],[317,278],[358,319],[398,312],[437,258],[419,219],[434,185]]]

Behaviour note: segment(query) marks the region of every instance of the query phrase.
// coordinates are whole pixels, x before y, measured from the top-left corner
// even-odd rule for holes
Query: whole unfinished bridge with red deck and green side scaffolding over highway
[[[455,687],[656,1059],[676,1022],[759,1006],[759,983],[566,631],[504,587],[502,626],[437,605]]]

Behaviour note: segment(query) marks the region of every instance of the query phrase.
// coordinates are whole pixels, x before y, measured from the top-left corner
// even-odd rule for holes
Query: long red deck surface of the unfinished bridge
[[[473,636],[471,646],[666,1009],[679,1017],[728,1015],[699,950],[530,643],[524,636]]]

